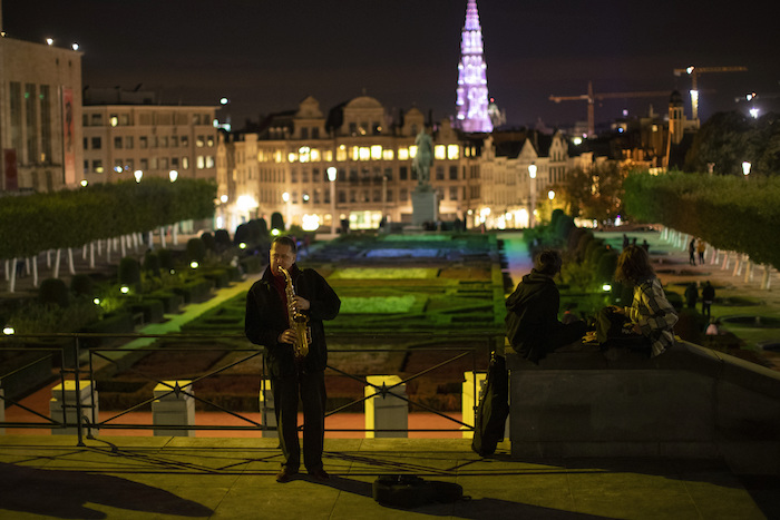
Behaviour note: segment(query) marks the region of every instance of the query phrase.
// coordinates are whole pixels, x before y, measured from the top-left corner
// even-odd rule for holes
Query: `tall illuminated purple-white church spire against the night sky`
[[[456,126],[464,131],[493,131],[488,115],[487,66],[482,60],[482,30],[477,0],[468,0],[458,63]]]

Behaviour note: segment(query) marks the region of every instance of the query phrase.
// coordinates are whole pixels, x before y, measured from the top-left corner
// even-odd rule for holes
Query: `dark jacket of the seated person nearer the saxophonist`
[[[550,276],[532,271],[507,298],[507,337],[515,351],[538,362],[547,354],[545,339],[563,327],[558,321],[560,295]]]

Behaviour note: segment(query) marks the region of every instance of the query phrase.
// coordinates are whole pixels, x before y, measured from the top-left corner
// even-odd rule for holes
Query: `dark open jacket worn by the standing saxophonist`
[[[295,294],[311,303],[311,308],[302,311],[309,316],[312,339],[303,366],[310,371],[325,370],[328,346],[325,345],[325,328],[322,321],[333,320],[339,314],[341,300],[328,285],[325,278],[314,269],[301,271],[296,264],[293,264],[290,275],[293,279]],[[263,277],[255,282],[246,294],[244,331],[252,343],[265,346],[269,370],[274,377],[295,372],[292,345],[277,342],[279,336],[287,328],[290,328],[287,312],[274,286],[271,268],[267,267]]]

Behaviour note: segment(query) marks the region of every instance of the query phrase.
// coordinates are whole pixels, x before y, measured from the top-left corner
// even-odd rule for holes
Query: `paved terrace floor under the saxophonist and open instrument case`
[[[711,461],[480,459],[465,440],[325,440],[330,481],[276,483],[273,440],[0,436],[0,518],[761,519],[767,480]],[[410,473],[457,482],[470,500],[380,506],[371,483]],[[777,490],[777,488],[776,488]],[[774,493],[777,494],[777,493]],[[774,502],[772,502],[774,500]]]

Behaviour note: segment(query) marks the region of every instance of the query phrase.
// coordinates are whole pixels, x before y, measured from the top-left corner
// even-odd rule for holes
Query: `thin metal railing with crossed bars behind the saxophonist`
[[[398,386],[404,385],[406,383],[425,377],[431,372],[435,372],[446,365],[449,365],[455,362],[459,362],[461,360],[465,360],[466,357],[470,356],[470,366],[472,372],[477,372],[478,370],[482,369],[482,366],[486,370],[487,366],[487,356],[485,356],[484,363],[480,363],[480,360],[478,359],[479,354],[482,352],[489,352],[495,349],[498,345],[498,342],[500,341],[503,343],[503,331],[496,331],[496,330],[484,330],[484,331],[470,331],[468,333],[458,333],[458,332],[452,332],[452,333],[438,333],[438,332],[417,332],[417,333],[396,333],[396,332],[381,332],[381,333],[369,333],[369,332],[350,332],[350,333],[334,333],[334,334],[328,334],[329,343],[331,344],[338,344],[339,341],[344,341],[344,340],[358,340],[360,342],[369,342],[369,341],[381,341],[384,343],[388,342],[403,342],[403,341],[413,341],[415,343],[423,343],[423,346],[399,346],[399,347],[383,347],[383,349],[329,349],[330,354],[339,354],[339,353],[404,353],[406,355],[410,353],[422,353],[422,352],[439,352],[439,353],[445,353],[443,360],[439,360],[436,364],[432,366],[427,366],[422,370],[420,370],[417,373],[406,375],[406,377],[401,379],[400,382],[392,384],[390,386],[382,385],[378,386],[374,384],[369,383],[365,380],[367,374],[352,374],[347,371],[343,371],[339,369],[338,366],[333,366],[332,364],[329,364],[326,367],[326,371],[331,371],[335,374],[349,377],[351,380],[354,380],[357,382],[360,382],[364,386],[373,386],[374,391],[377,394],[381,396],[386,395],[392,395],[398,399],[401,399],[406,401],[409,405],[411,406],[417,406],[421,410],[425,410],[426,412],[436,414],[440,418],[446,419],[449,422],[452,422],[455,426],[452,429],[326,429],[325,431],[331,431],[331,432],[454,432],[454,431],[469,431],[474,430],[474,424],[467,424],[464,421],[454,418],[451,415],[448,415],[447,413],[443,413],[442,411],[436,410],[432,406],[429,406],[422,402],[419,402],[417,400],[409,399],[408,396],[401,394],[400,392],[394,391]],[[30,346],[25,346],[23,343],[30,342],[30,341],[40,341],[40,340],[60,340],[60,344],[58,345],[52,345],[52,346],[36,346],[36,347],[30,347]],[[95,342],[95,341],[106,341],[106,340],[118,340],[123,343],[126,343],[125,345],[120,346],[96,346],[96,347],[85,347],[84,343],[85,342]],[[18,429],[76,429],[76,434],[78,438],[78,445],[84,445],[84,436],[85,436],[85,431],[88,432],[88,436],[91,436],[91,431],[92,430],[113,430],[113,429],[123,429],[123,430],[252,430],[252,431],[265,431],[265,430],[275,430],[275,426],[267,426],[269,421],[266,420],[266,414],[264,413],[265,410],[261,408],[261,416],[262,416],[262,423],[253,420],[252,418],[248,418],[246,415],[243,415],[241,413],[237,413],[235,411],[228,410],[225,406],[220,405],[218,403],[215,403],[213,401],[203,399],[202,396],[195,395],[194,392],[187,389],[192,389],[193,385],[206,377],[211,377],[217,374],[221,374],[225,371],[228,371],[230,369],[233,369],[240,364],[246,363],[250,360],[253,360],[257,356],[262,356],[264,353],[264,350],[262,346],[256,346],[256,345],[251,345],[251,346],[221,346],[221,347],[208,347],[208,349],[195,349],[195,347],[178,347],[178,346],[166,346],[166,345],[154,345],[154,346],[128,346],[127,343],[135,342],[135,341],[146,341],[146,342],[152,342],[156,340],[165,340],[166,342],[172,342],[172,341],[186,341],[188,343],[193,342],[220,342],[220,341],[236,341],[236,342],[244,342],[247,345],[251,345],[245,336],[240,335],[240,334],[234,334],[234,335],[226,335],[226,334],[87,334],[87,333],[60,333],[60,334],[30,334],[30,335],[12,335],[12,336],[0,336],[0,352],[8,352],[8,351],[23,351],[23,352],[40,352],[42,355],[39,359],[36,359],[35,361],[31,361],[23,366],[20,366],[18,369],[14,369],[8,373],[2,372],[2,367],[0,365],[0,387],[2,387],[2,381],[7,381],[9,377],[13,377],[14,375],[22,374],[26,370],[30,369],[36,363],[46,363],[46,362],[52,362],[53,360],[57,360],[59,362],[59,372],[57,374],[57,377],[60,381],[60,384],[62,385],[62,413],[61,413],[61,421],[59,420],[59,414],[58,416],[46,416],[39,411],[32,410],[29,406],[26,406],[21,402],[17,401],[16,399],[12,399],[10,396],[2,396],[0,395],[0,400],[4,401],[2,404],[11,404],[11,405],[17,405],[21,410],[25,410],[31,414],[33,414],[37,418],[42,419],[42,422],[0,422],[0,428],[18,428]],[[65,341],[65,343],[62,342]],[[71,341],[72,343],[67,344],[67,342]],[[447,343],[458,343],[465,346],[440,346],[441,344],[447,344]],[[425,346],[425,343],[428,343],[429,346]],[[242,356],[241,359],[226,364],[224,366],[220,366],[218,369],[207,371],[205,373],[201,373],[199,375],[193,377],[191,380],[191,383],[186,385],[186,387],[181,387],[178,386],[177,383],[174,383],[173,385],[169,382],[166,382],[163,377],[157,377],[148,373],[144,373],[143,371],[139,371],[135,367],[126,367],[123,370],[123,373],[133,373],[135,375],[138,375],[147,381],[155,382],[157,385],[163,385],[164,387],[168,389],[163,395],[158,394],[156,396],[150,396],[149,399],[146,399],[126,410],[118,411],[110,415],[108,419],[99,420],[98,414],[96,413],[98,402],[95,396],[95,392],[97,391],[97,383],[96,381],[96,373],[98,372],[99,367],[96,366],[96,364],[101,364],[100,367],[107,366],[109,364],[117,364],[118,360],[121,360],[124,355],[127,355],[133,352],[208,352],[208,351],[224,351],[224,352],[231,352],[231,353],[246,353],[245,356]],[[480,366],[481,365],[481,366]],[[326,372],[328,373],[328,372]],[[53,372],[52,372],[53,374]],[[390,374],[382,374],[382,375],[390,375]],[[70,380],[72,377],[72,380]],[[189,377],[189,375],[183,375],[182,377],[172,377],[175,380],[179,379],[185,379]],[[263,363],[261,364],[261,372],[257,374],[257,377],[260,380],[260,391],[264,392],[265,385],[267,384],[267,375],[266,375],[266,370],[265,370],[265,362],[263,359]],[[166,377],[167,379],[167,377]],[[67,381],[72,381],[74,384],[74,395],[76,399],[70,402],[66,398],[66,392],[65,392],[65,386],[66,386],[66,380]],[[170,380],[170,379],[168,379]],[[48,381],[49,383],[51,382],[51,379]],[[89,400],[87,403],[82,403],[80,395],[82,387],[85,385],[89,386]],[[214,425],[195,425],[195,424],[172,424],[168,425],[166,424],[165,426],[160,425],[155,425],[155,424],[138,424],[138,423],[119,423],[118,420],[129,413],[133,413],[135,411],[138,411],[139,409],[143,409],[147,406],[148,404],[153,403],[155,400],[163,399],[167,395],[175,394],[178,396],[179,394],[184,394],[185,396],[188,396],[191,399],[194,399],[195,401],[202,403],[205,406],[211,406],[215,409],[216,411],[224,412],[235,419],[241,420],[242,422],[245,422],[245,425],[228,425],[228,424],[214,424]],[[478,389],[477,389],[477,381],[475,377],[474,381],[474,395],[479,395]],[[259,395],[260,398],[260,395]],[[363,396],[360,399],[355,399],[350,403],[340,405],[333,410],[330,410],[326,412],[325,416],[331,416],[340,412],[344,412],[345,410],[349,410],[352,406],[355,406],[358,404],[364,403],[368,399],[371,399],[372,396]],[[475,416],[476,416],[476,399],[475,399]],[[68,418],[68,410],[74,410],[76,414],[76,420]],[[299,426],[299,429],[302,429],[303,425]]]

